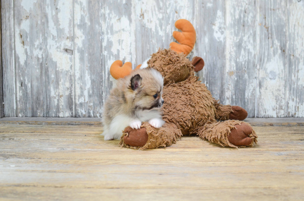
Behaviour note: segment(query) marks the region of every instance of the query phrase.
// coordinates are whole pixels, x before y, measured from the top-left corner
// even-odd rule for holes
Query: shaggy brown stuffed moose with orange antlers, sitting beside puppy
[[[158,70],[164,78],[162,110],[166,123],[159,129],[147,122],[143,122],[140,129],[127,127],[119,144],[154,149],[176,143],[181,136],[197,135],[221,146],[253,146],[257,135],[248,123],[241,121],[247,117],[247,111],[239,106],[221,105],[215,100],[194,74],[203,68],[203,59],[194,57],[191,62],[186,58],[196,41],[194,27],[183,19],[177,20],[175,26],[182,31],[173,32],[180,44],[172,42],[170,49],[159,50],[147,62],[147,68]],[[132,71],[130,62],[122,64],[118,60],[111,65],[110,73],[115,79]]]

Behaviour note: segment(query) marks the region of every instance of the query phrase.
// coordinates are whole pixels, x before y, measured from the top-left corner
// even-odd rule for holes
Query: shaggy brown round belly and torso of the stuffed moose
[[[215,122],[212,95],[197,80],[198,77],[190,76],[163,89],[163,120],[177,125],[183,135],[196,134],[208,120]]]

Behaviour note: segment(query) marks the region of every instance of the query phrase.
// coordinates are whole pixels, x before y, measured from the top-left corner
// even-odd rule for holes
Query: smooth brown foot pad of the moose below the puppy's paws
[[[130,126],[125,128],[124,133],[128,135],[123,137],[123,141],[129,146],[144,146],[148,141],[148,134],[146,128],[132,129]]]

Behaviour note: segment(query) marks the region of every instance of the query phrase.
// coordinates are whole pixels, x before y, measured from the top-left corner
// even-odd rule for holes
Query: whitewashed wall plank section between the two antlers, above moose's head
[[[177,31],[176,20],[189,20],[195,27],[195,1],[136,1],[134,17],[136,62],[133,66],[136,66],[159,48],[169,48],[175,40],[172,33]]]

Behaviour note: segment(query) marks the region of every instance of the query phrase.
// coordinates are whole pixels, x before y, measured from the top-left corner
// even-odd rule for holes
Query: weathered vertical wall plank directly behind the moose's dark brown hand
[[[221,99],[225,104],[243,107],[248,117],[255,117],[256,17],[255,1],[226,1],[226,65]]]

